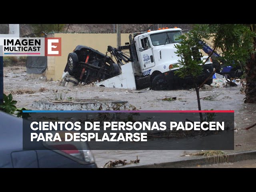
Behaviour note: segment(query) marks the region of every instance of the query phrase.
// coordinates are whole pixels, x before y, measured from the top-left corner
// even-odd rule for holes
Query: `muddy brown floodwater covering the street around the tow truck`
[[[241,87],[226,87],[200,90],[200,98],[218,95],[214,100],[201,99],[202,110],[234,110],[235,114],[235,150],[256,149],[256,127],[250,130],[241,128],[254,124],[256,121],[256,104],[244,104],[245,94]],[[36,80],[26,78],[26,68],[4,68],[4,92],[17,93],[13,95],[17,100],[17,107],[40,110],[33,106],[35,100],[53,98],[53,91],[65,94],[66,98],[76,99],[111,99],[128,101],[130,110],[197,110],[196,92],[192,89],[153,91],[127,90],[118,88],[96,87],[92,85],[62,87],[59,82],[46,81],[44,78]],[[165,97],[176,97],[173,101],[162,101]],[[230,151],[231,152],[231,151]],[[234,151],[233,151],[234,152]],[[109,160],[140,158],[140,164],[164,162],[180,159],[184,151],[157,150],[104,150],[94,151],[99,167]],[[182,157],[184,159],[184,157]]]

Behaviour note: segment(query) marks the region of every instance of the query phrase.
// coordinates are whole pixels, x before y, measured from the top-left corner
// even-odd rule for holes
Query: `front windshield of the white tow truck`
[[[181,39],[178,39],[180,35],[180,31],[168,31],[157,34],[151,34],[150,38],[152,41],[152,45],[158,46],[170,43],[179,43],[181,42]]]

